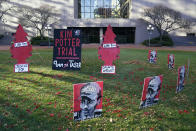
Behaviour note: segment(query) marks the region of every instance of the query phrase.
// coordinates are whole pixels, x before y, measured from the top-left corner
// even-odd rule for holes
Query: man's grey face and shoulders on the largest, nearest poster
[[[80,111],[74,112],[74,120],[86,120],[101,116],[102,110],[96,109],[101,101],[101,88],[96,82],[89,82],[80,89]]]

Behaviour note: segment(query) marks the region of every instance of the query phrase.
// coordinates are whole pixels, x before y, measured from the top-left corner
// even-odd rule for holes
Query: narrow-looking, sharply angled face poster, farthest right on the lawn
[[[180,92],[184,88],[184,82],[185,82],[185,75],[186,75],[186,68],[185,66],[181,66],[178,68],[178,81],[177,81],[177,87],[176,92]]]

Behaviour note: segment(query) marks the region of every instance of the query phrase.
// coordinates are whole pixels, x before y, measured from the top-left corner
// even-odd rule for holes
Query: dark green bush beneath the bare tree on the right
[[[148,40],[145,40],[144,42],[142,42],[142,44],[149,46],[148,42],[149,42]],[[160,41],[160,37],[156,37],[150,40],[150,46],[173,46],[173,45],[174,43],[168,35],[163,36],[162,41]]]

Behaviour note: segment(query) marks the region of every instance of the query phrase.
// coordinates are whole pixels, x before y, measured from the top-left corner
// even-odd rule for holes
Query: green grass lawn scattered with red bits
[[[168,70],[167,55],[175,55]],[[158,50],[157,64],[148,50],[121,49],[116,75],[101,74],[97,49],[82,50],[81,71],[52,70],[52,50],[34,50],[29,73],[14,73],[16,60],[0,51],[0,130],[194,130],[196,129],[196,52]],[[175,93],[177,67],[190,58],[185,89]],[[139,109],[145,77],[163,74],[160,101]],[[104,81],[102,117],[73,121],[73,84]]]

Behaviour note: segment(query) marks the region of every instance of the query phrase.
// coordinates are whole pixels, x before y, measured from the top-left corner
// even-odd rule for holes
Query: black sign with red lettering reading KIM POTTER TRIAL
[[[80,36],[80,30],[54,30],[52,69],[80,70],[82,44]]]

